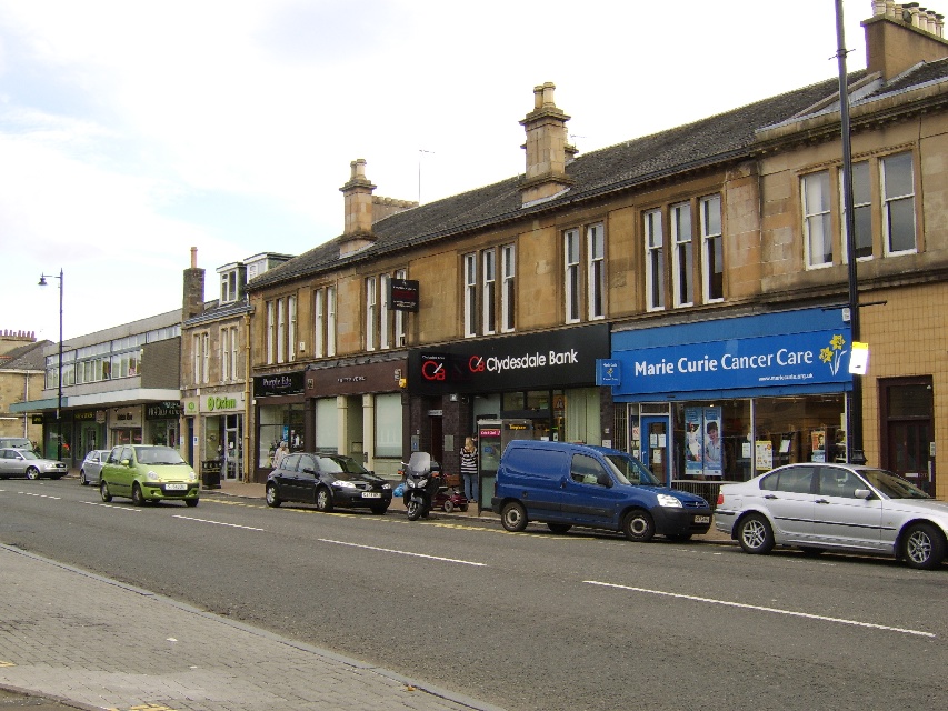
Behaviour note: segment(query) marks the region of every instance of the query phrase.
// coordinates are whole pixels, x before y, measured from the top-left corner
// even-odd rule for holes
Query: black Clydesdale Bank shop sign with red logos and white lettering
[[[481,339],[408,354],[408,390],[417,394],[591,385],[596,360],[609,358],[605,323]]]

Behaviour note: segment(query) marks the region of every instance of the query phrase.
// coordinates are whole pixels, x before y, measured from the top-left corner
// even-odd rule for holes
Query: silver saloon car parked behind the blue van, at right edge
[[[794,545],[894,555],[912,568],[937,568],[948,550],[948,502],[901,477],[851,464],[779,467],[724,484],[715,528],[748,553]]]

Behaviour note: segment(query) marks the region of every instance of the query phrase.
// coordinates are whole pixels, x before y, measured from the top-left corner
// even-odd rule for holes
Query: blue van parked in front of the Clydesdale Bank
[[[661,485],[626,452],[589,444],[513,440],[490,503],[512,532],[539,521],[553,533],[583,525],[621,531],[630,541],[656,533],[685,541],[711,527],[705,499]]]

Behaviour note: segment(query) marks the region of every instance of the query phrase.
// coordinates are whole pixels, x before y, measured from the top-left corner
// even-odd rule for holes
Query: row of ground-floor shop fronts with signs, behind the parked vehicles
[[[661,480],[701,490],[789,462],[845,461],[850,350],[839,308],[462,341],[258,375],[250,392],[67,410],[63,458],[76,465],[90,449],[178,442],[196,467],[263,481],[287,442],[396,478],[415,450],[458,473],[473,435],[486,507],[502,443],[529,437],[626,450]],[[886,461],[871,463],[935,492],[930,379],[879,387]],[[44,424],[54,454],[54,415]]]

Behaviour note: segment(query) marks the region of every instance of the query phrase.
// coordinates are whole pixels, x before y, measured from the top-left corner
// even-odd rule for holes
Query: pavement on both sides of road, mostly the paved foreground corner
[[[203,495],[265,491],[224,481]],[[403,512],[393,501],[389,514]],[[477,507],[435,515],[498,519]],[[714,529],[695,541],[730,542]],[[11,545],[0,571],[0,711],[501,711]]]

